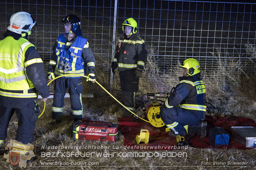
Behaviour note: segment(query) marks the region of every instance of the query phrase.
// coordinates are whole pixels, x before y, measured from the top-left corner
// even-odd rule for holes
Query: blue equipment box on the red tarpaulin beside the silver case
[[[216,144],[228,145],[229,134],[223,128],[220,128],[220,127],[211,128],[209,137],[212,145],[216,145]]]

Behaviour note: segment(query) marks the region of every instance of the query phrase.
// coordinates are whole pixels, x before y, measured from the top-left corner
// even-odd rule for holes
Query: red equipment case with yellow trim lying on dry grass
[[[115,142],[117,124],[82,119],[72,126],[73,140],[100,140]]]

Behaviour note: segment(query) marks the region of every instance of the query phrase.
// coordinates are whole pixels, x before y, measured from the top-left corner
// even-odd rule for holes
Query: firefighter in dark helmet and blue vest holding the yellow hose
[[[53,47],[52,57],[48,68],[48,78],[65,74],[77,74],[77,76],[65,76],[57,78],[54,84],[54,97],[52,104],[52,123],[60,123],[64,107],[66,89],[70,95],[72,117],[74,121],[83,118],[83,106],[81,93],[83,91],[82,78],[78,75],[89,70],[86,81],[95,82],[94,66],[95,58],[89,47],[87,39],[82,37],[80,19],[76,15],[68,15],[63,18],[65,33],[61,34]]]

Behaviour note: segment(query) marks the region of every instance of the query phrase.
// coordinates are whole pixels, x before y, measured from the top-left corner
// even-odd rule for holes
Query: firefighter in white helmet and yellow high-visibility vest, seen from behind
[[[33,33],[36,21],[27,12],[17,12],[0,41],[0,145],[13,112],[18,117],[15,140],[23,146],[33,141],[33,130],[39,116],[37,92],[47,100],[50,96],[44,63],[35,46],[26,38]],[[14,143],[16,147],[22,144]],[[27,151],[15,151],[25,154]]]

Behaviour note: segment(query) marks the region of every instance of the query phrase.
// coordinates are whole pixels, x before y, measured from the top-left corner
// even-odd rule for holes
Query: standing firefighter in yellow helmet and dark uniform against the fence
[[[118,39],[111,68],[115,74],[118,66],[124,106],[135,111],[135,94],[139,91],[139,78],[147,62],[148,50],[137,33],[137,22],[133,18],[126,19],[122,25],[124,34]],[[125,109],[124,115],[131,113]]]

